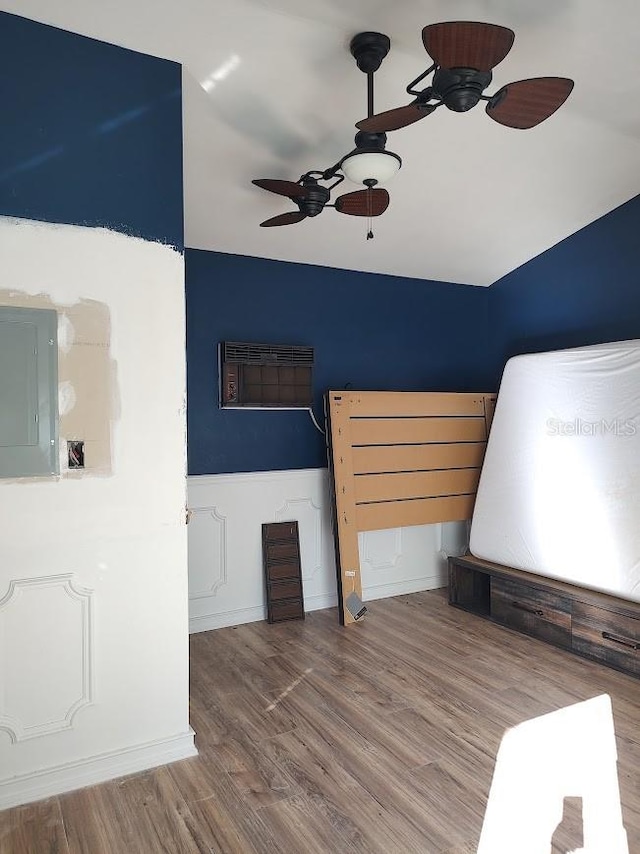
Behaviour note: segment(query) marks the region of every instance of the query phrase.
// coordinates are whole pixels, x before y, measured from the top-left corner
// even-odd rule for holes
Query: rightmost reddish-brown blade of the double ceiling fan
[[[573,80],[534,77],[503,86],[487,104],[487,115],[507,127],[527,130],[548,119],[567,100]],[[495,106],[491,106],[495,103]]]

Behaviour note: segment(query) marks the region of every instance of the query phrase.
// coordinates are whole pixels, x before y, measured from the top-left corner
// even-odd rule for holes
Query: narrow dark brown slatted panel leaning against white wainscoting
[[[304,619],[297,522],[272,522],[262,526],[262,560],[268,622]]]

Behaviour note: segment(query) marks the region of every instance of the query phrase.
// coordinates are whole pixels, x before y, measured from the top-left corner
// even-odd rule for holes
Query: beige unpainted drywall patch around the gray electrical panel
[[[109,307],[91,299],[64,305],[45,294],[10,289],[0,289],[0,306],[53,309],[58,316],[60,476],[111,474],[111,424],[120,401]],[[68,440],[84,442],[83,468],[69,468]]]

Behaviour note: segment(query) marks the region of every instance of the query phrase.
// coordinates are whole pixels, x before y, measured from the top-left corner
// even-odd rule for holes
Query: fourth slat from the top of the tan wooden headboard
[[[354,479],[356,504],[466,495],[475,493],[479,477],[478,468],[357,475]]]

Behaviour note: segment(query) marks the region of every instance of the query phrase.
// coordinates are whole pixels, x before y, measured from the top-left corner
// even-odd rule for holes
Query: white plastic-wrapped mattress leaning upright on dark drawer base
[[[640,340],[507,362],[470,548],[640,601]]]

